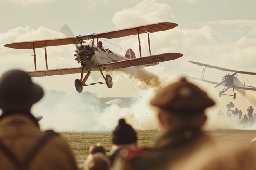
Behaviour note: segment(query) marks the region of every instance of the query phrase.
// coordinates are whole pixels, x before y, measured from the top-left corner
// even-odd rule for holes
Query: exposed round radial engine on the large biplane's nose
[[[90,67],[92,66],[92,63],[90,62],[92,59],[92,55],[94,55],[94,50],[90,46],[81,45],[78,46],[75,50],[76,54],[74,56],[76,57],[75,60],[81,64],[83,67]]]

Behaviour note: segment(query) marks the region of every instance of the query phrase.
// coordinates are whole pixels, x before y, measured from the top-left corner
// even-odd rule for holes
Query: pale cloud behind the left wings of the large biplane
[[[33,55],[33,49],[28,49],[28,50],[11,49],[11,48],[4,47],[4,44],[9,44],[11,42],[42,40],[42,39],[60,38],[60,37],[65,37],[65,36],[59,31],[47,29],[44,27],[31,29],[30,26],[26,26],[26,27],[19,26],[5,33],[1,33],[0,34],[0,60],[1,60],[0,72],[5,71],[9,68],[17,68],[17,67],[23,70],[34,69],[34,60],[33,60],[33,57],[31,57],[31,55]],[[73,59],[74,56],[72,56],[72,54],[74,53],[75,47],[74,48],[72,47],[73,46],[48,47],[47,48],[48,65],[51,68],[53,68],[52,66],[56,66],[61,62],[63,65],[65,65],[65,62],[69,61],[69,59],[65,57],[70,57],[71,60],[74,60]],[[44,54],[43,48],[36,49],[36,60],[37,60],[38,69],[45,69],[45,54]]]

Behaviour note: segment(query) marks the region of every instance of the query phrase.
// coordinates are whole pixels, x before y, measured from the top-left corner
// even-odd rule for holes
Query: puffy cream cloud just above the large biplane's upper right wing
[[[156,0],[144,0],[132,8],[122,9],[114,14],[112,22],[117,28],[174,20],[171,7]]]

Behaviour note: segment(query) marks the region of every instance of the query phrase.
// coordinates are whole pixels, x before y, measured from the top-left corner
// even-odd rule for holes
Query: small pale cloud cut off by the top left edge
[[[51,4],[54,3],[58,0],[9,0],[9,2],[20,5],[23,7],[27,6],[40,6],[40,5],[45,5],[45,4]]]

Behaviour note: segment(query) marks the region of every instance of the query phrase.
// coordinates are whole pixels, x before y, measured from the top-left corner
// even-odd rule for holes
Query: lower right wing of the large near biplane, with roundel
[[[119,69],[119,68],[126,68],[131,66],[140,66],[140,65],[147,65],[156,62],[165,62],[169,60],[175,60],[177,58],[182,57],[183,54],[180,53],[164,53],[158,55],[150,55],[147,57],[140,57],[134,58],[130,60],[122,60],[118,62],[111,62],[107,64],[99,64],[98,66],[101,68],[109,68],[109,69]]]

